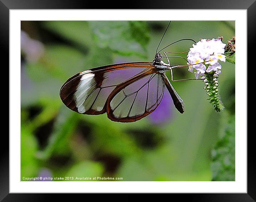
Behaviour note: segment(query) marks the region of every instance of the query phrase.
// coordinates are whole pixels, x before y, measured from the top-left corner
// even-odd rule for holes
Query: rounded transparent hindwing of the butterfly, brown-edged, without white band
[[[107,101],[108,118],[118,122],[137,121],[153,112],[164,94],[161,75],[152,69],[118,85]]]

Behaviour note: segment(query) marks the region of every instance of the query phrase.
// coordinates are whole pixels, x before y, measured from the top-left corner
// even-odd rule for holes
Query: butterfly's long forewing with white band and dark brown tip
[[[143,70],[153,68],[149,64],[138,62],[108,65],[80,72],[61,87],[61,100],[78,113],[102,114],[105,112],[105,102],[115,87]]]

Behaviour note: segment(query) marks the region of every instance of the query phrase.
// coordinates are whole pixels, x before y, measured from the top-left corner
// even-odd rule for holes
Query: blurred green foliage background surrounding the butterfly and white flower
[[[148,117],[117,123],[106,114],[80,115],[59,98],[61,85],[77,72],[116,62],[151,62],[167,25],[167,21],[21,22],[21,29],[41,41],[45,50],[36,62],[22,55],[21,180],[38,176],[42,169],[53,177],[123,181],[235,179],[235,156],[227,155],[235,150],[235,124],[225,121],[235,114],[234,64],[222,64],[223,113],[212,110],[200,81],[173,82],[186,111],[180,114],[173,107],[171,119],[157,125]],[[235,35],[234,26],[234,21],[173,21],[160,48],[182,38],[197,41],[221,34],[225,42]],[[166,51],[183,52],[191,46],[182,41]],[[186,64],[181,59],[171,63]],[[174,77],[193,75],[184,68],[175,70]],[[226,136],[219,140],[225,127]]]

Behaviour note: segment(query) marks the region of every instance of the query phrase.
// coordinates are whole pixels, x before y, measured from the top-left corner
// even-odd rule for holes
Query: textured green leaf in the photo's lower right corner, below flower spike
[[[225,136],[212,150],[212,181],[235,181],[235,116],[228,121]]]

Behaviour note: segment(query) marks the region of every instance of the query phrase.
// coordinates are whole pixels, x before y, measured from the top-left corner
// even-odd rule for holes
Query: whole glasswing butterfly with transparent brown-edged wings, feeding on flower
[[[170,23],[171,21],[169,25]],[[192,39],[178,41],[182,40],[194,41]],[[112,121],[134,122],[152,113],[161,103],[164,90],[167,89],[174,106],[183,113],[184,102],[174,90],[165,72],[170,70],[172,75],[173,68],[188,65],[171,65],[167,56],[170,52],[164,52],[168,61],[166,64],[162,61],[163,56],[159,53],[160,51],[157,52],[157,50],[153,62],[106,65],[79,72],[61,87],[62,102],[78,113],[99,115],[107,112],[108,118]],[[175,81],[173,76],[172,81]]]

